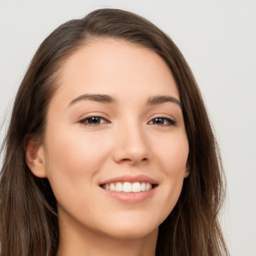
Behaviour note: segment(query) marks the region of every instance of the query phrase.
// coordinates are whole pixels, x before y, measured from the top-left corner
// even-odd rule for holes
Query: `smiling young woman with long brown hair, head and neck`
[[[98,9],[42,42],[3,149],[2,256],[228,255],[199,89],[136,14]]]

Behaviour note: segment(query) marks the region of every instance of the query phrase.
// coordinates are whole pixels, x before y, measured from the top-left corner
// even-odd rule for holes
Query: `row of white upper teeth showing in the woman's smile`
[[[103,184],[102,188],[106,190],[111,191],[117,191],[117,192],[140,192],[140,191],[148,191],[152,189],[152,184],[148,182],[116,182],[116,183],[109,183],[109,184]]]

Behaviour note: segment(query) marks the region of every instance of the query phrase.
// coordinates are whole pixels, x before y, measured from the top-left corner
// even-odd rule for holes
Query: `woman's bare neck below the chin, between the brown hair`
[[[59,221],[57,256],[154,256],[158,229],[139,238],[111,237]]]

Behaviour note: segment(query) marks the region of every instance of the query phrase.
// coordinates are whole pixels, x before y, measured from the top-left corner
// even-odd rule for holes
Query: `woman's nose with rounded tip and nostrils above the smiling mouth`
[[[122,125],[115,132],[113,159],[117,163],[127,162],[131,165],[149,160],[148,139],[139,124]]]

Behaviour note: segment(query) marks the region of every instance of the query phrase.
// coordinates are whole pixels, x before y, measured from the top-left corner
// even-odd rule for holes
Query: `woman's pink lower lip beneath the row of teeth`
[[[101,189],[107,196],[110,196],[121,202],[139,203],[153,196],[156,187],[153,187],[148,191],[141,191],[141,192],[117,192],[117,191],[106,190],[104,188],[101,188]]]

